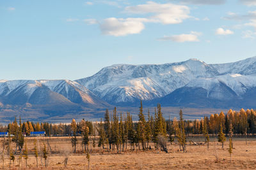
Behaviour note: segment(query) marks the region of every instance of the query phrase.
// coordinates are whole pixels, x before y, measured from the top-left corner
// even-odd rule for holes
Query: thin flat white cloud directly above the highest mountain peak
[[[179,35],[173,35],[173,36],[164,36],[163,38],[159,38],[160,41],[175,41],[179,43],[184,43],[186,41],[188,42],[197,42],[199,41],[198,36],[200,36],[201,32],[195,32],[191,31],[190,34],[179,34]]]

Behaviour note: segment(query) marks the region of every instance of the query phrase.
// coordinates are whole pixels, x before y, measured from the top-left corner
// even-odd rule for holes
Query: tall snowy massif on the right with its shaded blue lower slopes
[[[133,106],[140,99],[149,105],[161,101],[166,106],[198,107],[234,106],[236,100],[243,106],[238,101],[256,87],[256,57],[227,64],[196,59],[158,65],[118,64],[76,81],[119,106]]]

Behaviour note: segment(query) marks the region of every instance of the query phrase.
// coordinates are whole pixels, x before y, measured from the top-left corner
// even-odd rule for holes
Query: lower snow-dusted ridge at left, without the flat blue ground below
[[[0,81],[0,101],[3,104],[68,104],[109,106],[90,90],[70,80]]]

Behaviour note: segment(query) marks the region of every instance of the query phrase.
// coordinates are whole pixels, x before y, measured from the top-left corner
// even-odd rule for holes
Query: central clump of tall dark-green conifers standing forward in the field
[[[90,124],[90,122],[85,122],[84,120],[76,123],[76,120],[73,119],[70,125],[72,129],[73,152],[76,152],[77,134],[82,136],[84,150],[86,148],[88,150],[90,136],[92,136],[93,147],[96,145],[95,136],[99,136],[99,147],[113,151],[116,150],[117,153],[123,152],[124,148],[127,149],[127,145],[130,145],[130,148],[133,150],[150,149],[151,146],[148,145],[150,142],[154,143],[154,147],[157,150],[160,148],[168,152],[166,148],[167,137],[169,136],[169,140],[172,142],[173,134],[176,134],[180,147],[184,152],[186,151],[185,123],[181,110],[179,122],[176,119],[166,121],[160,104],[157,105],[154,116],[151,116],[148,111],[147,118],[145,118],[141,103],[138,117],[138,122],[134,122],[130,113],[125,115],[120,113],[118,115],[115,108],[113,114],[111,113],[110,115],[109,111],[106,110],[104,121],[101,120],[99,123]]]

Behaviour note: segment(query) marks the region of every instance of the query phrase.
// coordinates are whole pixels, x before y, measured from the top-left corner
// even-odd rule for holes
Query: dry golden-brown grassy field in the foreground
[[[28,143],[29,157],[28,169],[45,169],[41,167],[41,160],[38,158],[39,168],[36,168],[36,159],[33,155],[33,139],[25,138]],[[47,169],[64,169],[63,152],[68,151],[67,169],[88,169],[88,162],[86,154],[81,153],[82,147],[77,146],[78,153],[72,152],[72,145],[70,137],[51,137],[40,138],[40,145],[44,141],[51,146],[52,153],[49,152],[49,167]],[[196,142],[203,141],[201,138],[195,138]],[[230,162],[230,155],[228,153],[228,140],[225,142],[225,150],[221,149],[220,143],[211,138],[210,148],[207,150],[205,145],[189,145],[187,146],[188,152],[183,153],[179,151],[179,145],[168,145],[169,153],[164,153],[156,150],[135,151],[128,149],[122,153],[114,153],[103,151],[101,148],[92,148],[90,154],[90,169],[256,169],[256,140],[253,138],[248,139],[247,145],[243,138],[234,139],[234,150],[232,153],[232,161]],[[3,145],[3,138],[1,138],[1,145]],[[13,144],[14,145],[14,144]],[[153,144],[152,144],[153,146]],[[153,147],[152,147],[153,148]],[[15,148],[13,147],[13,150]],[[47,148],[49,149],[49,148]],[[1,152],[3,146],[0,148]],[[220,161],[216,162],[216,152]],[[18,168],[18,157],[15,155],[14,167]],[[43,160],[44,162],[44,160]],[[0,167],[2,168],[3,161],[1,160]],[[9,159],[5,155],[4,169],[8,169]],[[22,169],[25,169],[25,160],[22,159]]]

